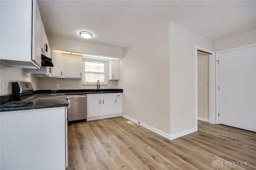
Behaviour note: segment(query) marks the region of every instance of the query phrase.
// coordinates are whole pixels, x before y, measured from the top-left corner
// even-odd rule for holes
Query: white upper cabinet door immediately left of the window
[[[66,74],[67,78],[82,78],[82,62],[81,56],[66,55]]]

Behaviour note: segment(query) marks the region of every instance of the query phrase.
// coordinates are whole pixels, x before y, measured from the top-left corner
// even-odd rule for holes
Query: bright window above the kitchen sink
[[[107,61],[84,59],[84,84],[107,84]]]

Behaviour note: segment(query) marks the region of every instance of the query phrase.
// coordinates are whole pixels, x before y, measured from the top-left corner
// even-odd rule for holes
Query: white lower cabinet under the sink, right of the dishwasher
[[[87,121],[122,115],[122,93],[87,94]]]

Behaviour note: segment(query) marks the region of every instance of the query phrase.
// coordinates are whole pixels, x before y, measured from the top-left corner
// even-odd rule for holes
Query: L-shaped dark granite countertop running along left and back
[[[123,93],[123,89],[79,89],[79,90],[39,90],[33,91],[33,97],[23,101],[17,100],[14,94],[0,96],[0,112],[28,109],[43,109],[51,107],[66,107],[68,95],[82,95],[94,93]]]

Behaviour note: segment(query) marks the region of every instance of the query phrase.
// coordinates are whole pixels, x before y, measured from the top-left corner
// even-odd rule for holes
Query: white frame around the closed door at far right
[[[217,51],[216,52],[216,61],[219,60],[219,54],[220,53],[226,53],[226,52],[230,52],[230,51],[235,51],[238,49],[244,49],[244,48],[250,48],[250,47],[254,47],[256,46],[256,43],[250,44],[250,45],[244,45],[244,46],[240,46],[240,47],[235,47],[235,48],[231,48],[231,49],[225,49],[222,51]],[[219,113],[219,91],[218,91],[218,87],[219,87],[219,65],[216,64],[216,113]],[[220,124],[220,119],[218,114],[216,114],[216,124]]]

